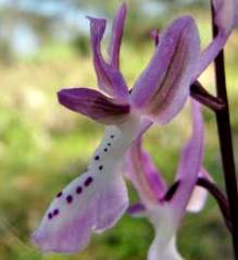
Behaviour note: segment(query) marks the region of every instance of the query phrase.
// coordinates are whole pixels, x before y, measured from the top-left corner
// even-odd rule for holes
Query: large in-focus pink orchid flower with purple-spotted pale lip
[[[58,94],[61,104],[103,123],[105,133],[87,171],[57,195],[34,233],[33,240],[43,251],[79,251],[92,233],[116,223],[128,207],[122,174],[126,151],[153,122],[165,124],[181,110],[195,72],[199,75],[205,69],[202,65],[198,71],[203,59],[195,21],[181,16],[162,33],[151,61],[129,94],[118,59],[125,17],[126,5],[122,4],[113,22],[108,61],[101,53],[107,22],[88,17],[98,86],[104,94],[89,88],[62,89]],[[224,44],[212,44],[208,52],[215,53],[214,49],[221,49]],[[209,54],[208,64],[214,55]]]

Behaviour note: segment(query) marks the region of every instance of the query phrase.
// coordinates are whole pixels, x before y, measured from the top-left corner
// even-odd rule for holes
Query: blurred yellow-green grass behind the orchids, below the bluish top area
[[[204,34],[206,35],[206,34]],[[238,144],[238,36],[227,47],[227,78],[235,148]],[[125,44],[122,69],[129,86],[145,67],[153,45],[138,48]],[[82,253],[42,256],[29,243],[51,198],[83,172],[100,141],[103,127],[61,108],[55,92],[65,86],[96,86],[90,59],[76,57],[65,47],[49,47],[32,60],[1,66],[0,99],[0,258],[1,260],[142,260],[153,237],[150,225],[125,215],[103,235],[96,235]],[[129,59],[129,62],[128,62]],[[213,89],[211,70],[202,82]],[[205,109],[206,151],[204,164],[223,186],[215,124]],[[186,109],[173,123],[154,127],[146,147],[168,182],[173,182],[177,157],[189,135]],[[236,160],[238,152],[236,150]],[[130,190],[133,197],[134,191]],[[231,259],[229,236],[212,199],[203,212],[187,215],[178,235],[186,259]]]

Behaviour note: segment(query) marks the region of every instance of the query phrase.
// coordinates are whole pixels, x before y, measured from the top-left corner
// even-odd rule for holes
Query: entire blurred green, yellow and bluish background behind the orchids
[[[180,14],[196,18],[202,46],[211,39],[209,1],[128,0],[122,46],[122,71],[128,85],[147,65],[154,46],[150,30]],[[29,242],[54,195],[87,165],[103,126],[62,108],[62,87],[96,87],[85,15],[107,16],[107,50],[112,18],[121,1],[0,0],[0,259],[1,260],[145,260],[153,238],[150,224],[128,215],[103,235],[95,235],[78,255],[41,255]],[[226,46],[227,84],[238,161],[238,33]],[[214,92],[213,70],[201,77]],[[204,165],[224,186],[212,112],[204,110]],[[173,123],[153,127],[146,147],[173,183],[180,147],[190,131],[189,107]],[[130,196],[136,194],[130,187]],[[199,214],[187,214],[178,233],[185,259],[233,259],[229,234],[212,198]]]

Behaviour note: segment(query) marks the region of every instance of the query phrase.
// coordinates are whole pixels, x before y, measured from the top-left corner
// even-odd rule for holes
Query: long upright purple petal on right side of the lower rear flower
[[[196,186],[203,157],[203,120],[201,106],[192,101],[192,136],[180,154],[177,170],[178,188],[171,200],[177,221],[185,214],[186,207]]]

